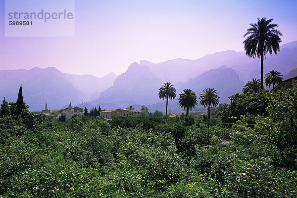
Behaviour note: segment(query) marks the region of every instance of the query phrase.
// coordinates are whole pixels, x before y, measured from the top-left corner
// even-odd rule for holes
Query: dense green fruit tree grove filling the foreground
[[[297,84],[268,98],[254,128],[245,116],[232,128],[192,115],[2,116],[0,197],[297,197]]]

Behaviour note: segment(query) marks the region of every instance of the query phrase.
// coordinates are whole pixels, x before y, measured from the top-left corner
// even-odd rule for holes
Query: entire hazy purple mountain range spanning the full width
[[[276,55],[267,55],[264,59],[264,74],[277,70],[284,79],[292,78],[297,71],[297,41],[280,48]],[[185,88],[191,88],[197,95],[204,88],[215,88],[220,103],[225,103],[229,101],[227,96],[241,93],[248,80],[259,77],[259,59],[248,58],[245,52],[228,50],[197,60],[174,59],[161,63],[141,60],[132,63],[120,76],[110,73],[102,78],[65,74],[55,68],[3,70],[0,71],[0,97],[15,101],[22,84],[24,100],[31,111],[44,109],[46,102],[49,109],[61,109],[69,101],[88,109],[99,105],[102,109],[146,105],[152,112],[155,109],[165,111],[158,89],[168,81],[177,90],[177,97],[170,101],[168,109],[178,111],[182,110],[178,106],[179,93]]]

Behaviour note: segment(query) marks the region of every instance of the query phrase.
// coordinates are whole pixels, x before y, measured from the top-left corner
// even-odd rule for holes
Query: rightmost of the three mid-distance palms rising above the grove
[[[203,90],[204,94],[200,94],[200,104],[204,107],[208,107],[208,119],[210,119],[210,112],[209,112],[209,107],[210,106],[217,106],[219,104],[219,96],[218,93],[214,88],[205,88]]]

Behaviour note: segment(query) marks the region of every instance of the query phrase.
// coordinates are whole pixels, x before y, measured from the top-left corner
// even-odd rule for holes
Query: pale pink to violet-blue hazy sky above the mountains
[[[0,70],[56,67],[102,77],[140,60],[243,51],[258,17],[274,19],[282,44],[297,40],[297,0],[75,0],[74,37],[5,37],[0,3]]]

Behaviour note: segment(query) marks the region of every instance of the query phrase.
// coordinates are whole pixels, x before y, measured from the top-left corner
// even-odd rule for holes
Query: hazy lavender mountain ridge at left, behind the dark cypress
[[[16,101],[20,84],[23,88],[24,101],[30,111],[41,111],[48,102],[49,109],[61,109],[68,105],[87,101],[96,91],[103,91],[112,85],[116,75],[110,74],[102,78],[91,75],[70,75],[58,71],[54,67],[31,70],[0,71],[0,99]]]

